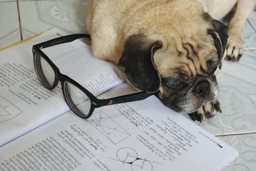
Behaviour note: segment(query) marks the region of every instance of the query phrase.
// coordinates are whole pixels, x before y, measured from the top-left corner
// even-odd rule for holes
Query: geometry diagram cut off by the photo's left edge
[[[22,111],[18,107],[0,96],[0,123],[8,121],[21,113]]]

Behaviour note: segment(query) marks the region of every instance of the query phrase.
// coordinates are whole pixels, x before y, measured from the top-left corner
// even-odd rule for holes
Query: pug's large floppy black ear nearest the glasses
[[[118,67],[131,85],[148,93],[159,90],[161,78],[153,55],[160,47],[160,41],[150,42],[143,34],[132,35],[126,40]]]

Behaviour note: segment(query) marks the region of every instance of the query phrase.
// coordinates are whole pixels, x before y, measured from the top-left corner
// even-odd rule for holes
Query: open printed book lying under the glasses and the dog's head
[[[53,28],[0,51],[0,169],[57,171],[216,171],[237,151],[156,96],[69,110],[58,85],[44,88],[32,45],[65,35]],[[60,72],[98,98],[135,93],[117,66],[92,57],[80,40],[43,49]]]

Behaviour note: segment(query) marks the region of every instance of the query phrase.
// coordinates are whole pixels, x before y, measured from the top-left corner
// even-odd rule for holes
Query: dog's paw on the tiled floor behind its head
[[[227,46],[225,60],[236,62],[239,61],[243,55],[243,43],[241,36],[230,31]]]

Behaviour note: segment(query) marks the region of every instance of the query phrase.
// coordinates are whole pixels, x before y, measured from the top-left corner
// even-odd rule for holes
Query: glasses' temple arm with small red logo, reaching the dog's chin
[[[103,99],[103,100],[100,100],[98,107],[110,105],[110,104],[120,104],[120,103],[144,100],[151,95],[158,96],[158,92],[157,93],[138,92],[130,95],[122,95],[122,96],[117,96],[109,99]]]

